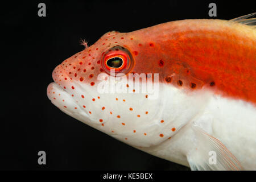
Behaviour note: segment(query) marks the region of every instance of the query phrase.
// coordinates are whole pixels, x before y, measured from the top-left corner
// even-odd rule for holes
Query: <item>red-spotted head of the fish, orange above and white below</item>
[[[122,142],[155,146],[195,115],[199,100],[169,84],[173,72],[164,56],[143,32],[108,32],[57,65],[48,98],[64,113]]]

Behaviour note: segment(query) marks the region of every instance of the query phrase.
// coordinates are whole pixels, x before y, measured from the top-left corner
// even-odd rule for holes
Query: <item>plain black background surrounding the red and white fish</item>
[[[38,3],[46,3],[46,17]],[[0,169],[189,170],[148,155],[61,112],[48,100],[57,64],[105,32],[130,32],[180,19],[255,12],[255,1],[27,1],[1,4]],[[2,3],[2,2],[1,2]],[[38,164],[46,151],[47,165]]]

